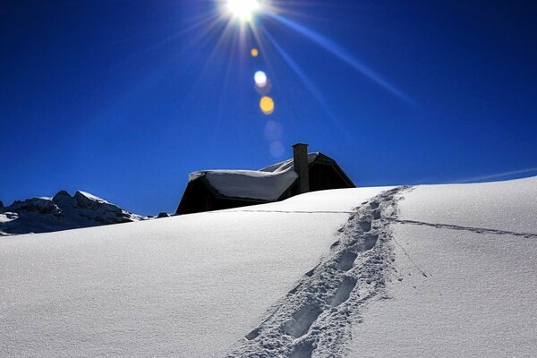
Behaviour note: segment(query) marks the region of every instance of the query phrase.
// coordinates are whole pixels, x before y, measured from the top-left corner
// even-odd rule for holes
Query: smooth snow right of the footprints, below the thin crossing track
[[[363,356],[533,357],[537,346],[535,238],[396,228],[423,277],[396,247],[403,281],[371,304],[353,332]],[[410,275],[409,275],[410,274]]]

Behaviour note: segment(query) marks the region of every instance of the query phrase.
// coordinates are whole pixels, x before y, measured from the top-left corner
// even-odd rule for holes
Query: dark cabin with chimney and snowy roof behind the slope
[[[354,188],[332,158],[308,153],[308,145],[293,146],[293,159],[260,170],[203,170],[189,182],[175,215],[232,209],[285,200],[303,192]]]

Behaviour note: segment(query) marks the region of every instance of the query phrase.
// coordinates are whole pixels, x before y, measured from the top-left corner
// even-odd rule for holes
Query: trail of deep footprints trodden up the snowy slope
[[[362,307],[385,295],[394,270],[389,224],[408,187],[365,201],[338,230],[328,255],[275,303],[226,358],[339,357]]]

